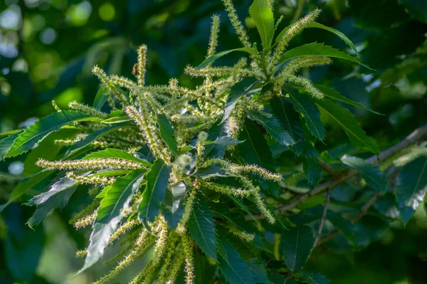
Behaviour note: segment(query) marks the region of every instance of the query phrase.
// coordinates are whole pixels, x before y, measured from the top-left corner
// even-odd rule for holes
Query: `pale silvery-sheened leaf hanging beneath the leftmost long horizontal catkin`
[[[33,228],[41,223],[53,209],[62,209],[68,200],[70,200],[77,186],[78,182],[63,177],[54,183],[49,191],[38,194],[30,199],[26,205],[36,205],[37,209],[28,220],[28,226]]]

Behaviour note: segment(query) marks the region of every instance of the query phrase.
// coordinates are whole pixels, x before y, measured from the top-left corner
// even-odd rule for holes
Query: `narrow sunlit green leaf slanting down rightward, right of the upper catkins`
[[[315,104],[342,127],[355,147],[367,149],[375,154],[379,153],[374,138],[366,135],[351,112],[327,98],[316,100]]]

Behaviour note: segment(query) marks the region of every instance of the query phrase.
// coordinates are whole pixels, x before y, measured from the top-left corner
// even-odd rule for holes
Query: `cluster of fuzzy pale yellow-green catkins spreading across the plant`
[[[254,48],[255,44],[249,41],[243,25],[238,20],[231,0],[223,0],[223,3],[243,46]],[[269,3],[271,4],[271,1]],[[130,265],[132,261],[144,255],[149,249],[153,249],[151,261],[131,283],[152,283],[156,279],[159,283],[174,283],[182,268],[186,273],[186,283],[194,283],[194,241],[189,236],[187,221],[194,206],[196,192],[201,188],[216,191],[220,194],[244,196],[256,204],[260,213],[265,215],[270,223],[275,222],[273,215],[263,201],[259,186],[253,184],[249,175],[254,174],[273,182],[280,182],[280,175],[273,174],[255,165],[234,164],[223,158],[206,158],[204,156],[205,144],[208,138],[206,131],[223,117],[229,88],[245,77],[256,78],[263,84],[273,84],[273,88],[263,95],[263,99],[271,95],[281,95],[281,85],[285,82],[302,86],[316,98],[323,97],[320,90],[317,90],[309,80],[295,75],[295,73],[300,68],[330,63],[329,58],[324,56],[305,56],[291,61],[280,72],[276,71],[280,55],[285,51],[289,41],[302,28],[305,28],[308,23],[313,21],[319,12],[319,10],[315,10],[305,18],[300,19],[300,21],[293,23],[288,28],[288,31],[278,38],[275,48],[272,48],[267,53],[263,51],[251,55],[250,64],[247,63],[246,58],[242,58],[233,67],[212,67],[209,64],[204,68],[197,69],[187,66],[185,70],[187,74],[204,78],[203,84],[194,90],[179,86],[179,82],[176,79],[169,80],[169,85],[145,85],[147,46],[141,46],[137,51],[138,63],[134,68],[137,82],[116,75],[107,75],[98,67],[93,68],[93,73],[100,79],[102,88],[107,90],[107,103],[110,105],[111,110],[122,110],[130,120],[135,122],[140,130],[127,128],[107,133],[107,135],[91,143],[93,148],[117,148],[134,154],[142,147],[148,147],[154,158],[162,159],[164,163],[172,165],[169,183],[184,181],[190,188],[186,193],[184,214],[176,229],[168,226],[162,214],[159,214],[154,222],[149,223],[149,229],[139,223],[134,213],[137,210],[137,204],[142,199],[142,194],[137,192],[132,197],[129,209],[126,209],[126,212],[123,213],[126,216],[130,216],[130,218],[123,222],[115,233],[110,236],[110,243],[113,243],[120,236],[127,233],[128,246],[123,253],[111,260],[117,261],[118,258],[122,258],[118,261],[117,266],[110,273],[95,281],[96,284],[102,284],[114,278],[117,273]],[[280,20],[278,23],[280,23]],[[216,53],[219,26],[219,16],[213,16],[207,58]],[[276,25],[277,27],[278,24]],[[108,115],[78,102],[71,102],[69,107],[101,119],[106,119]],[[249,109],[263,110],[262,100],[253,100],[247,97],[238,100],[228,119],[224,122],[226,123],[226,132],[229,137],[238,138],[241,125],[246,117],[246,110]],[[157,114],[159,113],[166,115],[173,122],[174,138],[177,142],[178,150],[188,147],[189,142],[196,137],[197,142],[194,146],[196,151],[193,156],[189,152],[179,152],[180,154],[176,155],[167,147],[157,127]],[[105,127],[100,122],[77,125],[85,130],[87,135]],[[80,135],[75,140],[58,140],[56,142],[64,145],[73,145],[84,137],[85,135]],[[232,147],[228,146],[228,149]],[[233,174],[243,186],[240,188],[225,186],[216,184],[214,179],[199,179],[184,174],[184,168],[193,162],[196,163],[196,169],[215,164],[224,171]],[[102,172],[106,172],[105,170],[120,171],[148,167],[146,164],[112,158],[54,162],[40,159],[37,164],[39,167],[47,169],[67,170],[66,177],[68,179],[82,184],[95,184],[97,186],[109,186],[115,182],[115,177],[102,174]],[[143,188],[140,191],[143,191]],[[99,199],[95,199],[93,204],[78,214],[74,220],[75,227],[83,228],[92,225],[96,219],[99,204]],[[253,235],[250,233],[240,231],[234,226],[229,226],[228,229],[230,233],[238,236],[243,241],[253,240]],[[85,255],[85,250],[78,252],[78,256]],[[210,259],[210,261],[212,263],[215,262],[213,259]]]

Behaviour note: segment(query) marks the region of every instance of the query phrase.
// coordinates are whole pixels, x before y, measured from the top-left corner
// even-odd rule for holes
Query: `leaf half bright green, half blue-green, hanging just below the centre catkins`
[[[148,222],[154,221],[154,218],[159,215],[171,172],[172,167],[169,164],[164,164],[162,159],[157,159],[147,174],[147,186],[138,208],[138,219],[146,228],[149,228]]]

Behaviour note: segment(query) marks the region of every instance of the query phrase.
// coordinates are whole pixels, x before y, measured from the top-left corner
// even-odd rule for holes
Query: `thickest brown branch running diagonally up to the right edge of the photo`
[[[394,154],[401,152],[401,150],[405,149],[408,146],[411,146],[412,144],[415,144],[416,142],[423,139],[423,137],[425,136],[427,136],[427,124],[417,128],[416,130],[413,130],[413,132],[410,135],[408,135],[404,140],[395,144],[389,149],[386,149],[383,152],[379,153],[378,157],[374,155],[372,157],[369,157],[368,159],[365,159],[365,162],[369,164],[379,164],[379,162],[389,159]],[[275,214],[283,214],[283,212],[288,211],[292,208],[295,208],[296,206],[300,205],[303,201],[309,199],[311,196],[321,194],[323,191],[327,189],[333,189],[334,187],[339,186],[339,184],[342,184],[343,182],[345,182],[350,177],[354,177],[358,173],[359,172],[354,170],[343,172],[342,174],[339,174],[337,177],[332,178],[323,184],[320,184],[314,189],[310,189],[310,191],[308,191],[307,193],[297,196],[297,198],[293,199],[288,204],[279,206],[278,208],[275,209]],[[246,219],[252,220],[251,216],[246,216]],[[265,219],[265,216],[258,215],[258,216],[255,216],[255,219],[257,220]]]

